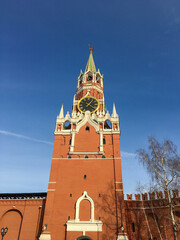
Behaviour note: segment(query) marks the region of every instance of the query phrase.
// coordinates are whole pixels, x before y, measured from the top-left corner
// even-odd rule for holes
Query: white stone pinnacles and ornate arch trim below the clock
[[[88,91],[85,95],[91,96],[90,92]],[[99,151],[98,152],[92,152],[90,154],[104,154],[104,145],[103,145],[103,136],[105,134],[120,134],[119,129],[119,116],[116,112],[115,104],[113,103],[113,112],[112,115],[108,111],[97,111],[96,113],[90,113],[90,111],[86,111],[85,113],[76,112],[75,111],[75,104],[78,104],[79,100],[75,100],[75,96],[73,99],[73,111],[72,111],[72,117],[70,116],[69,112],[64,117],[64,110],[63,105],[61,107],[60,114],[57,116],[56,119],[56,129],[54,131],[54,134],[56,135],[71,135],[71,145],[69,154],[76,154],[77,152],[74,152],[74,146],[75,146],[75,139],[76,134],[79,132],[81,127],[85,126],[87,123],[89,126],[92,126],[95,128],[96,132],[99,134]],[[104,97],[103,99],[99,100],[100,102],[104,103]],[[107,129],[104,127],[104,124],[106,121],[111,122],[111,128]],[[70,129],[65,129],[64,125],[66,122],[69,122],[71,124]],[[115,124],[115,125],[114,125]],[[102,127],[100,127],[100,125]],[[80,154],[85,154],[85,152],[81,152]]]

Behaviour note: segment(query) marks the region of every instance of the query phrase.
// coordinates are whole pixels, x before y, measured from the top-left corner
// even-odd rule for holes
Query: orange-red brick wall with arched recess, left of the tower
[[[0,227],[8,227],[4,239],[38,239],[44,206],[45,199],[0,199]]]

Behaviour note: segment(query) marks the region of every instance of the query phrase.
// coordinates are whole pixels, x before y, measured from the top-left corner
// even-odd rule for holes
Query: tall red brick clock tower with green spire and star
[[[72,115],[57,116],[40,240],[128,239],[119,117],[106,111],[103,75],[92,48],[77,80]]]

